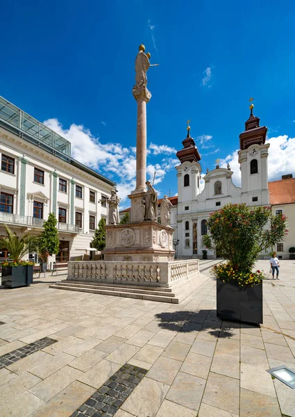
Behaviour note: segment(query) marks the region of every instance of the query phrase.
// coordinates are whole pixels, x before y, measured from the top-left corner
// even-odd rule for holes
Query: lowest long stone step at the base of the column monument
[[[58,285],[57,285],[58,284]],[[178,304],[179,300],[176,297],[171,297],[165,295],[151,295],[151,294],[140,294],[140,293],[127,293],[124,291],[113,291],[112,290],[102,290],[101,288],[83,288],[81,286],[73,285],[62,285],[62,283],[51,284],[49,288],[56,288],[58,290],[68,290],[68,291],[81,291],[83,293],[92,293],[92,294],[101,294],[101,295],[113,295],[115,297],[128,297],[128,298],[137,298],[139,300],[149,300],[149,301],[158,301],[158,302],[169,302],[173,304]]]

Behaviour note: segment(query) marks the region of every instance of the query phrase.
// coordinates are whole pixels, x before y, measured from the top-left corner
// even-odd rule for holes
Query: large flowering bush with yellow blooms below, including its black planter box
[[[204,243],[226,259],[211,270],[217,279],[219,318],[262,323],[264,275],[254,265],[260,252],[283,240],[285,227],[285,215],[274,216],[269,207],[227,204],[210,215]]]

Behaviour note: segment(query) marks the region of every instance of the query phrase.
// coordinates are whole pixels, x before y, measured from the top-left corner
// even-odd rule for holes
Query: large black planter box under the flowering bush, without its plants
[[[235,282],[217,279],[217,317],[238,322],[263,322],[262,283],[239,287]]]

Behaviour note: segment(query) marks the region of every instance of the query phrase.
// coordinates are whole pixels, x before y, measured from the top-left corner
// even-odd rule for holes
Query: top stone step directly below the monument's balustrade
[[[149,294],[149,295],[162,295],[163,297],[175,297],[175,294],[172,292],[167,292],[167,291],[162,291],[161,287],[154,287],[154,289],[149,288],[149,290],[145,290],[145,289],[135,289],[135,288],[129,288],[129,286],[116,286],[116,287],[112,287],[112,286],[108,286],[108,285],[97,285],[97,284],[90,284],[90,283],[85,283],[83,281],[76,281],[76,282],[71,282],[71,281],[62,281],[62,282],[56,282],[56,284],[54,284],[56,286],[75,286],[80,287],[80,288],[92,288],[92,289],[99,289],[99,290],[107,290],[107,291],[114,291],[114,292],[124,292],[124,293],[137,293],[137,294]]]

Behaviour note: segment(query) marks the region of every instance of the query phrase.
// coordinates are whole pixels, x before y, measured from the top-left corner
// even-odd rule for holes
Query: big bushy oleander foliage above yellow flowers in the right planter
[[[227,204],[210,214],[204,244],[216,250],[237,270],[249,272],[260,252],[283,240],[285,215],[272,215],[270,207]]]

